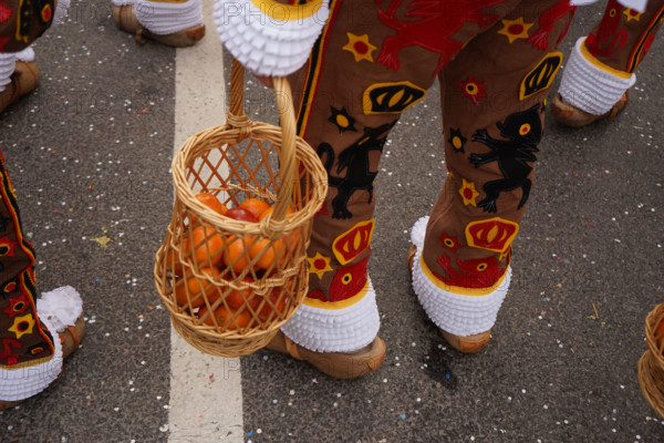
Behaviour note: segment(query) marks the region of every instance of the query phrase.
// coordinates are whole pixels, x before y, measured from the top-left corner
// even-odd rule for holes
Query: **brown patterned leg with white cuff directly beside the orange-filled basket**
[[[310,292],[282,328],[309,350],[352,352],[376,337],[366,268],[373,182],[387,134],[464,43],[516,4],[487,1],[450,13],[458,3],[415,3],[332,1],[309,64],[291,76],[300,134],[321,156],[330,184],[313,223]]]

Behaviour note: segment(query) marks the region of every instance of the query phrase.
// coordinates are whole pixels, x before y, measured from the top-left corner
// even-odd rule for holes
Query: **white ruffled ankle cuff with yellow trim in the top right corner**
[[[604,115],[634,85],[636,75],[596,60],[585,48],[584,40],[577,40],[558,92],[567,104],[592,115]]]

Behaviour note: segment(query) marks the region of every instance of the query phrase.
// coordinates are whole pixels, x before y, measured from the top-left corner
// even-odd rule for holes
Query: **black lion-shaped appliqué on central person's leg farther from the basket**
[[[495,213],[498,195],[504,190],[521,188],[523,195],[518,208],[528,200],[532,182],[528,178],[532,166],[528,162],[537,161],[533,153],[539,152],[537,145],[542,137],[542,123],[540,119],[540,104],[527,111],[516,112],[496,123],[500,135],[507,140],[491,138],[487,130],[478,130],[473,136],[474,142],[487,145],[491,151],[483,154],[470,154],[468,159],[479,167],[487,163],[498,162],[502,172],[501,179],[485,183],[483,189],[486,197],[477,205],[487,213]]]

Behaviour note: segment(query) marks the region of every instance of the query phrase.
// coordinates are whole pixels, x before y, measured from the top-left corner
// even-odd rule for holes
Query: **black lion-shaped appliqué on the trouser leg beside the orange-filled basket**
[[[318,155],[321,159],[323,155],[326,156],[325,169],[328,171],[329,184],[339,189],[339,194],[332,199],[332,218],[351,218],[353,216],[349,210],[347,204],[355,190],[367,190],[369,203],[371,203],[373,198],[373,181],[377,172],[369,169],[369,153],[371,151],[383,152],[387,135],[384,135],[382,138],[378,137],[390,131],[395,123],[396,120],[378,127],[365,127],[362,137],[339,154],[335,173],[340,174],[343,169],[346,169],[343,177],[333,177],[331,175],[334,164],[334,150],[332,145],[329,143],[321,143],[319,145],[317,150]]]

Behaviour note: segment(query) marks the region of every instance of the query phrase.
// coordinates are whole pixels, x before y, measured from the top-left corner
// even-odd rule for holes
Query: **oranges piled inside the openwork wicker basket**
[[[247,198],[240,205],[228,208],[211,193],[201,192],[196,198],[205,206],[226,217],[258,223],[274,210],[268,202],[257,197]],[[292,214],[289,208],[288,214]],[[185,256],[196,262],[199,276],[185,275],[178,249],[167,256],[167,266],[175,279],[175,298],[179,306],[190,309],[205,324],[218,326],[225,330],[242,329],[251,324],[255,313],[267,321],[278,312],[283,312],[287,297],[281,288],[269,293],[255,293],[251,284],[256,278],[268,276],[278,267],[286,254],[286,248],[298,246],[299,236],[284,236],[281,240],[270,240],[253,236],[222,236],[211,226],[197,224],[194,214],[188,215],[189,227],[184,236],[180,249]],[[241,280],[245,285],[215,285],[225,276],[238,276],[252,264],[250,272]],[[253,277],[250,277],[253,276]],[[240,286],[240,289],[235,287]],[[208,312],[209,307],[224,297],[221,303]],[[207,303],[206,303],[207,300]]]

